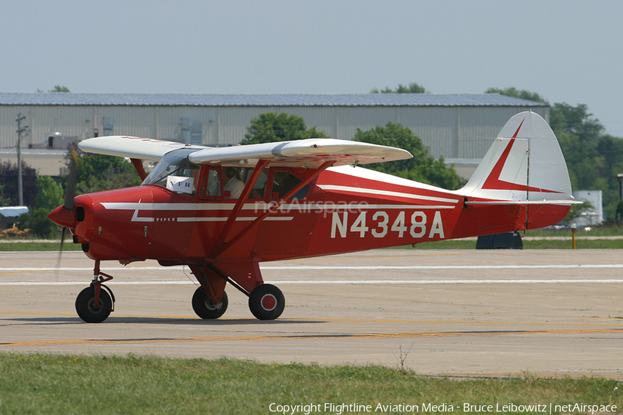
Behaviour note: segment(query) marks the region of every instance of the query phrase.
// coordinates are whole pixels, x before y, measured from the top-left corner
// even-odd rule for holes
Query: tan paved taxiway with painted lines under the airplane
[[[228,288],[221,319],[190,305],[190,270],[102,263],[116,310],[75,315],[93,261],[0,252],[0,352],[222,356],[258,362],[383,364],[447,376],[623,380],[619,250],[383,249],[262,264],[287,306],[253,318]]]

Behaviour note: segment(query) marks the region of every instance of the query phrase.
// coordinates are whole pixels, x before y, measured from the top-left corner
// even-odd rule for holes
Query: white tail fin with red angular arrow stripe
[[[487,200],[570,203],[569,173],[548,123],[534,112],[510,118],[461,193]]]

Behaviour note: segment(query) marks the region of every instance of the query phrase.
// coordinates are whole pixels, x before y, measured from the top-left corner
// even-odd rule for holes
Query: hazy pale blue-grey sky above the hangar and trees
[[[586,104],[623,137],[623,1],[8,1],[0,91],[366,94],[417,82]]]

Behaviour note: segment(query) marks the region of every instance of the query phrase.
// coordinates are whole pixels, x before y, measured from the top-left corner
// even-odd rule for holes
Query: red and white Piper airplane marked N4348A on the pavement
[[[358,167],[412,156],[353,141],[206,148],[105,136],[78,146],[131,159],[143,179],[137,187],[72,195],[48,216],[95,260],[93,281],[75,301],[91,323],[114,308],[103,284],[112,276],[100,261],[188,265],[199,281],[192,297],[199,317],[224,314],[231,283],[249,296],[255,317],[276,319],[285,299],[262,280],[264,261],[545,227],[574,203],[558,141],[532,112],[510,118],[458,191]],[[145,159],[159,161],[149,175]]]

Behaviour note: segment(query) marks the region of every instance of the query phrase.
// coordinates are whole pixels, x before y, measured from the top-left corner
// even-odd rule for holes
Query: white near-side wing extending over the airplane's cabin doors
[[[258,160],[266,160],[270,161],[271,166],[317,168],[327,161],[334,161],[333,166],[356,166],[412,157],[406,150],[384,145],[336,139],[305,139],[205,148],[190,154],[188,159],[195,164],[253,166]]]

